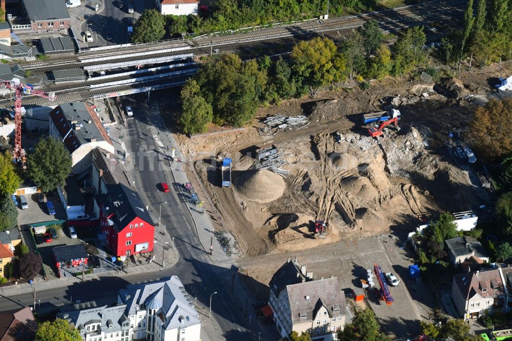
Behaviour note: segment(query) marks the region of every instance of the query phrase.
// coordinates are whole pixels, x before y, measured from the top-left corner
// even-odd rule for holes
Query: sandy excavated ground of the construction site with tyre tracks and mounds
[[[260,135],[255,121],[242,132],[177,140],[221,216],[216,228],[234,235],[244,257],[379,235],[414,226],[424,212],[475,208],[487,199],[450,156],[446,136],[476,108],[465,96],[492,92],[489,79],[509,73],[502,66],[438,84],[385,80],[369,91],[329,92],[260,111],[260,117],[307,115],[310,124],[301,130]],[[401,129],[369,137],[361,113],[391,104],[402,112]],[[270,145],[283,153],[290,175],[250,169],[254,150]],[[223,157],[233,159],[230,188],[221,187]],[[326,238],[312,236],[315,220],[326,221]]]

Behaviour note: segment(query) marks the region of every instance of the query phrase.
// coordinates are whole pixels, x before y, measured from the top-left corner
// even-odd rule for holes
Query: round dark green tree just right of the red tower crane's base
[[[71,173],[71,155],[62,142],[53,137],[39,140],[27,160],[27,174],[44,192],[63,185]],[[51,176],[50,176],[51,175]]]

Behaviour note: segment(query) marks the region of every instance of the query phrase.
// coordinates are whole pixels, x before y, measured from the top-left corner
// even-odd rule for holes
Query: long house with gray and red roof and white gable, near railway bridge
[[[98,115],[82,102],[62,103],[50,112],[50,136],[62,141],[71,153],[74,174],[91,166],[94,148],[115,153]]]

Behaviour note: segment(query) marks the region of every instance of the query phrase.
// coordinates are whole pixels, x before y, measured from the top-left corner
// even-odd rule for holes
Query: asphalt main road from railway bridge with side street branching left
[[[135,98],[138,100],[138,103],[144,102],[143,96],[139,95]],[[133,100],[134,97],[131,99]],[[209,339],[258,339],[258,331],[253,333],[248,330],[246,319],[240,309],[236,307],[236,300],[245,302],[245,297],[236,297],[230,290],[231,278],[236,272],[236,267],[230,265],[218,266],[211,263],[208,254],[203,250],[201,244],[198,243],[194,222],[191,220],[184,202],[176,194],[176,184],[170,168],[160,165],[164,156],[156,152],[158,148],[152,137],[152,132],[158,134],[156,127],[161,128],[163,125],[160,120],[158,103],[155,105],[150,104],[150,106],[135,104],[133,105],[133,111],[134,118],[127,121],[127,127],[123,129],[122,133],[126,147],[128,150],[134,151],[131,152],[132,171],[130,171],[129,166],[127,169],[129,169],[129,173],[135,179],[136,188],[147,205],[156,207],[158,210],[159,204],[167,201],[167,204],[162,205],[161,225],[165,226],[166,232],[175,238],[174,245],[178,248],[180,260],[172,268],[158,272],[134,274],[124,276],[123,278],[105,275],[97,281],[86,281],[65,288],[37,291],[36,299],[37,302],[40,300],[40,307],[38,304],[36,311],[37,309],[45,311],[56,310],[58,306],[69,301],[76,302],[76,300],[81,302],[96,300],[101,304],[114,303],[117,298],[117,291],[127,284],[178,275],[189,295],[197,297],[198,305],[202,306],[202,309],[199,309],[200,312],[206,311],[206,315],[210,294],[218,292],[218,294],[212,297],[211,314],[212,318],[215,318],[217,321],[218,327],[215,324],[203,322],[203,327],[206,329]],[[148,122],[152,122],[155,128],[148,129],[150,127]],[[120,135],[120,132],[117,134]],[[113,136],[115,133],[112,132],[111,135]],[[113,139],[117,141],[114,136]],[[172,188],[170,193],[162,193],[157,190],[157,184],[164,181]],[[156,214],[153,211],[152,216],[156,217],[158,221],[158,211]],[[158,238],[156,240],[158,241]],[[159,252],[158,248],[156,252]],[[15,309],[32,304],[32,293],[9,297],[2,296],[0,298],[2,310]],[[201,316],[203,319],[207,318],[204,314]],[[254,325],[254,321],[252,322]],[[219,329],[220,331],[218,331]],[[264,332],[261,336],[262,340],[274,339],[273,336],[265,337]]]

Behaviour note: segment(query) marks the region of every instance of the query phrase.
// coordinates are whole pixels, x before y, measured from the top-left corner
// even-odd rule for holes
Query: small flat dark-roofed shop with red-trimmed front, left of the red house
[[[59,278],[72,276],[73,272],[84,270],[89,257],[83,244],[56,246],[52,249]]]

